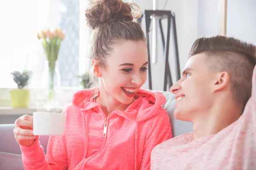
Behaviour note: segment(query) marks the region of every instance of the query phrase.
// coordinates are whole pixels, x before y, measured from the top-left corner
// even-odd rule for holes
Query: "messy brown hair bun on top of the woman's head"
[[[132,21],[141,16],[139,6],[135,3],[124,3],[122,0],[90,0],[91,7],[85,11],[87,25],[98,28],[110,20]],[[132,10],[137,11],[134,14]]]

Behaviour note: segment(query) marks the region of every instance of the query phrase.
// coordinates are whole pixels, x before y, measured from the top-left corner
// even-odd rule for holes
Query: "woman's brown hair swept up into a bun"
[[[113,45],[124,40],[145,41],[140,24],[133,21],[141,16],[137,4],[122,0],[94,0],[91,5],[85,11],[87,25],[93,29],[90,59],[97,59],[99,65],[104,66]]]

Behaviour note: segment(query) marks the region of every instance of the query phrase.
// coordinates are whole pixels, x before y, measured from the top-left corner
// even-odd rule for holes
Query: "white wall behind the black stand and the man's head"
[[[142,10],[152,9],[152,0],[134,0],[134,2]],[[227,36],[256,44],[256,11],[254,10],[256,0],[227,2]],[[158,0],[157,9],[162,10],[164,3],[165,0]],[[175,12],[180,71],[182,71],[193,42],[199,37],[212,37],[218,34],[218,0],[169,0],[164,10]],[[164,64],[160,39],[157,40],[157,50],[158,61],[156,64],[151,64],[152,86],[153,90],[163,90]],[[174,57],[173,42],[170,41],[169,63],[173,83],[176,82]],[[143,88],[148,88],[147,82]]]

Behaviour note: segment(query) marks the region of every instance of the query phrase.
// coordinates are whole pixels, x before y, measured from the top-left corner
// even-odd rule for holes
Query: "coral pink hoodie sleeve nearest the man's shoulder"
[[[151,129],[145,140],[143,157],[140,164],[140,170],[150,170],[150,155],[153,148],[167,139],[172,138],[172,127],[169,116],[165,110],[162,110],[154,118]]]

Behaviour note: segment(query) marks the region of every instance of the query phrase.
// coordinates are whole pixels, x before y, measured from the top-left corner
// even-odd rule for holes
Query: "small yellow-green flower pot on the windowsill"
[[[13,108],[28,108],[30,91],[28,89],[10,90]]]

